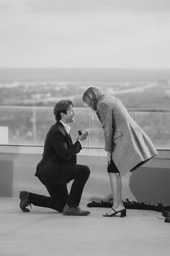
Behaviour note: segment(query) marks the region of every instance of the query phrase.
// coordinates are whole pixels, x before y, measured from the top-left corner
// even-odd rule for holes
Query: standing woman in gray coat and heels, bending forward
[[[158,153],[146,132],[131,118],[119,99],[90,87],[84,93],[83,101],[96,112],[104,131],[104,150],[107,151],[107,172],[113,197],[112,208],[104,216],[112,217],[120,213],[124,217],[126,210],[122,203],[121,176]]]

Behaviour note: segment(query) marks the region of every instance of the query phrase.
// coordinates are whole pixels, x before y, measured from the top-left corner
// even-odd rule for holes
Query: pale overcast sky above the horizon
[[[0,67],[170,69],[169,0],[0,0]]]

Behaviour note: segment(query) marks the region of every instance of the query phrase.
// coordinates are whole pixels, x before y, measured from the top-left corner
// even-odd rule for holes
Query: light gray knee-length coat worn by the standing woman
[[[158,155],[151,139],[119,99],[102,95],[97,101],[96,113],[104,130],[104,150],[112,153],[112,159],[122,176]]]

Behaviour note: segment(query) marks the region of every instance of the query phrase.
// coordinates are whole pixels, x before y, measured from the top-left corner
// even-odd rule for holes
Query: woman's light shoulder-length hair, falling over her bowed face
[[[94,111],[97,111],[97,101],[101,95],[102,93],[99,89],[96,87],[89,87],[83,95],[83,102]]]

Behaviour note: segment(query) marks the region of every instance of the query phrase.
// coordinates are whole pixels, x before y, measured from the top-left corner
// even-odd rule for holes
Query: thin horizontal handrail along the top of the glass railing
[[[1,109],[12,110],[51,110],[52,106],[0,106]],[[78,111],[90,111],[87,107],[75,107]],[[129,112],[161,112],[170,113],[170,108],[127,108]]]

